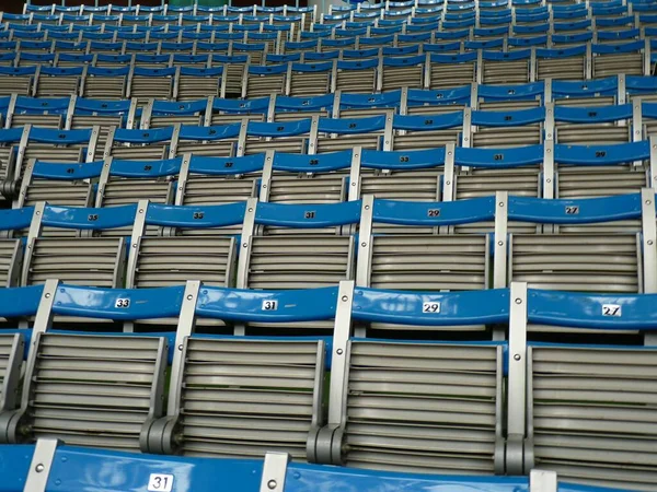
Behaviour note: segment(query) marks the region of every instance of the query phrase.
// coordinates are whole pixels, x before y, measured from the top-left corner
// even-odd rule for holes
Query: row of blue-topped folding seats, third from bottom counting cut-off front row
[[[138,183],[116,180],[101,188],[108,200],[120,201],[122,188],[129,194]],[[185,185],[191,189],[193,181]],[[270,192],[298,187],[285,173],[264,185]],[[165,184],[159,188],[171,191]],[[154,185],[148,189],[157,197]],[[289,290],[355,279],[359,286],[378,289],[471,291],[525,281],[546,290],[654,293],[654,198],[655,190],[644,188],[569,200],[498,192],[453,202],[371,195],[330,204],[37,202],[0,214],[0,230],[15,237],[0,242],[2,283],[36,285],[57,277],[77,285],[151,288],[198,279],[208,285]],[[326,326],[296,328],[321,332]]]

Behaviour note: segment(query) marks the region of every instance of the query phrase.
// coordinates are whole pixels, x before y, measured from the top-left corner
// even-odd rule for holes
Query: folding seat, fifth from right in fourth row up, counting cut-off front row
[[[176,206],[246,201],[258,195],[265,154],[242,157],[192,155],[178,176]]]

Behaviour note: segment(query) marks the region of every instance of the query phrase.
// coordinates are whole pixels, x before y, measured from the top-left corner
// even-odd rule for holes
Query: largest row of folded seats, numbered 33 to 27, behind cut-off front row
[[[522,475],[537,466],[576,483],[650,491],[654,297],[550,293],[523,282],[477,293],[348,281],[257,293],[198,281],[5,289],[0,315],[34,317],[34,327],[0,335],[0,441],[223,458],[283,452],[406,473]],[[168,317],[177,326],[174,333],[61,332],[51,328],[54,316]],[[320,339],[218,337],[197,328],[207,319],[319,321],[331,331]],[[395,325],[401,338],[408,328],[496,324],[508,342],[358,337],[378,323]],[[528,343],[533,324],[646,330],[648,347]]]

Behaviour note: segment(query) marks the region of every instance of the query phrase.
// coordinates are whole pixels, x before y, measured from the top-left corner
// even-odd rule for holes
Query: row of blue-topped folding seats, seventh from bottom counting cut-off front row
[[[62,60],[64,57],[21,55],[19,58],[7,54],[4,57],[0,55],[0,63],[4,60],[10,65],[0,67],[0,95],[15,93],[54,97],[74,94],[99,99],[191,101],[208,96],[258,97],[272,93],[311,96],[337,90],[371,94],[402,87],[445,90],[472,82],[505,85],[548,79],[600,80],[615,78],[619,72],[625,80],[633,78],[637,90],[647,92],[645,87],[653,84],[641,82],[639,78],[652,72],[649,45],[635,42],[626,47],[627,51],[622,54],[603,50],[595,56],[588,45],[569,49],[567,54],[570,56],[565,57],[553,56],[561,50],[545,50],[545,54],[540,54],[544,57],[539,56],[540,49],[509,52],[477,50],[463,55],[426,54],[306,63],[288,61],[262,67],[249,63],[250,56],[244,55],[96,54],[84,56],[95,67],[51,67],[47,61],[46,65],[41,62]],[[337,58],[339,52],[335,54]],[[174,65],[176,59],[178,61]],[[111,67],[101,66],[101,60],[108,61]],[[20,67],[12,67],[15,61]],[[83,62],[78,56],[73,56],[71,61],[76,65]],[[195,62],[196,66],[193,65]]]

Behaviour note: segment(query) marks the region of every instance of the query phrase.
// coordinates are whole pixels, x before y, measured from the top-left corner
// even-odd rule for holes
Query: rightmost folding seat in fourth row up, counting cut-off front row
[[[639,192],[649,187],[655,163],[649,141],[616,145],[554,147],[557,198],[593,198]]]

